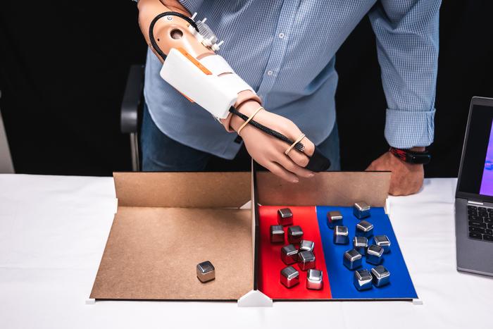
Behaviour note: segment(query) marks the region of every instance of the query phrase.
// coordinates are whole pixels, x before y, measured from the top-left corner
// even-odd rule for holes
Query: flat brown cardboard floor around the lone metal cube
[[[120,206],[90,297],[239,299],[253,289],[252,248],[249,209]],[[201,283],[196,264],[206,260],[216,280]]]

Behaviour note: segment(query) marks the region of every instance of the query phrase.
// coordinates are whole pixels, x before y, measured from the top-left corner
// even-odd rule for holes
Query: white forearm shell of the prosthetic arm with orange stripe
[[[230,113],[230,107],[236,103],[240,92],[245,90],[254,94],[255,92],[235,73],[222,56],[213,52],[219,50],[223,42],[217,43],[218,38],[204,23],[205,18],[195,22],[194,16],[188,18],[175,12],[161,13],[154,18],[149,27],[149,39],[156,52],[164,59],[161,77],[187,99],[205,108],[216,119],[225,119]],[[175,45],[170,48],[168,55],[161,51],[154,39],[154,25],[160,18],[164,18],[169,25],[173,25],[175,18],[186,20],[188,23],[187,31],[174,26],[169,31],[169,35],[163,36],[163,38],[169,38],[169,41]],[[185,49],[185,42],[182,46],[177,44],[177,40],[185,38],[185,33],[189,38],[194,37],[211,52],[201,58],[190,54]],[[160,42],[161,39],[158,41]]]

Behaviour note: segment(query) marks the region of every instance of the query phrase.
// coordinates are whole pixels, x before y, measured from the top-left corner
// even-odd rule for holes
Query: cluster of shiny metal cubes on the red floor
[[[293,225],[293,213],[289,208],[277,211],[278,225],[270,226],[270,242],[284,243],[287,228],[287,241],[289,244],[281,248],[281,259],[287,265],[280,273],[280,281],[285,287],[291,288],[299,284],[299,271],[294,268],[298,264],[301,271],[306,273],[306,288],[321,290],[323,288],[323,271],[315,268],[315,254],[313,249],[315,243],[303,239],[303,230],[299,225]],[[297,247],[298,248],[297,248]]]

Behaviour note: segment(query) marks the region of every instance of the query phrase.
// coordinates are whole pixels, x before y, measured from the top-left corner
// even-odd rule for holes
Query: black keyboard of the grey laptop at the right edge
[[[468,206],[469,237],[493,242],[493,208]]]

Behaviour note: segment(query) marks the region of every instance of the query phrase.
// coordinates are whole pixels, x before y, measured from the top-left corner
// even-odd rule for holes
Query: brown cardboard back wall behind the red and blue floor
[[[385,206],[390,184],[390,172],[384,171],[316,173],[313,178],[300,178],[297,184],[266,171],[256,175],[256,201],[264,206],[351,206],[356,201]]]

